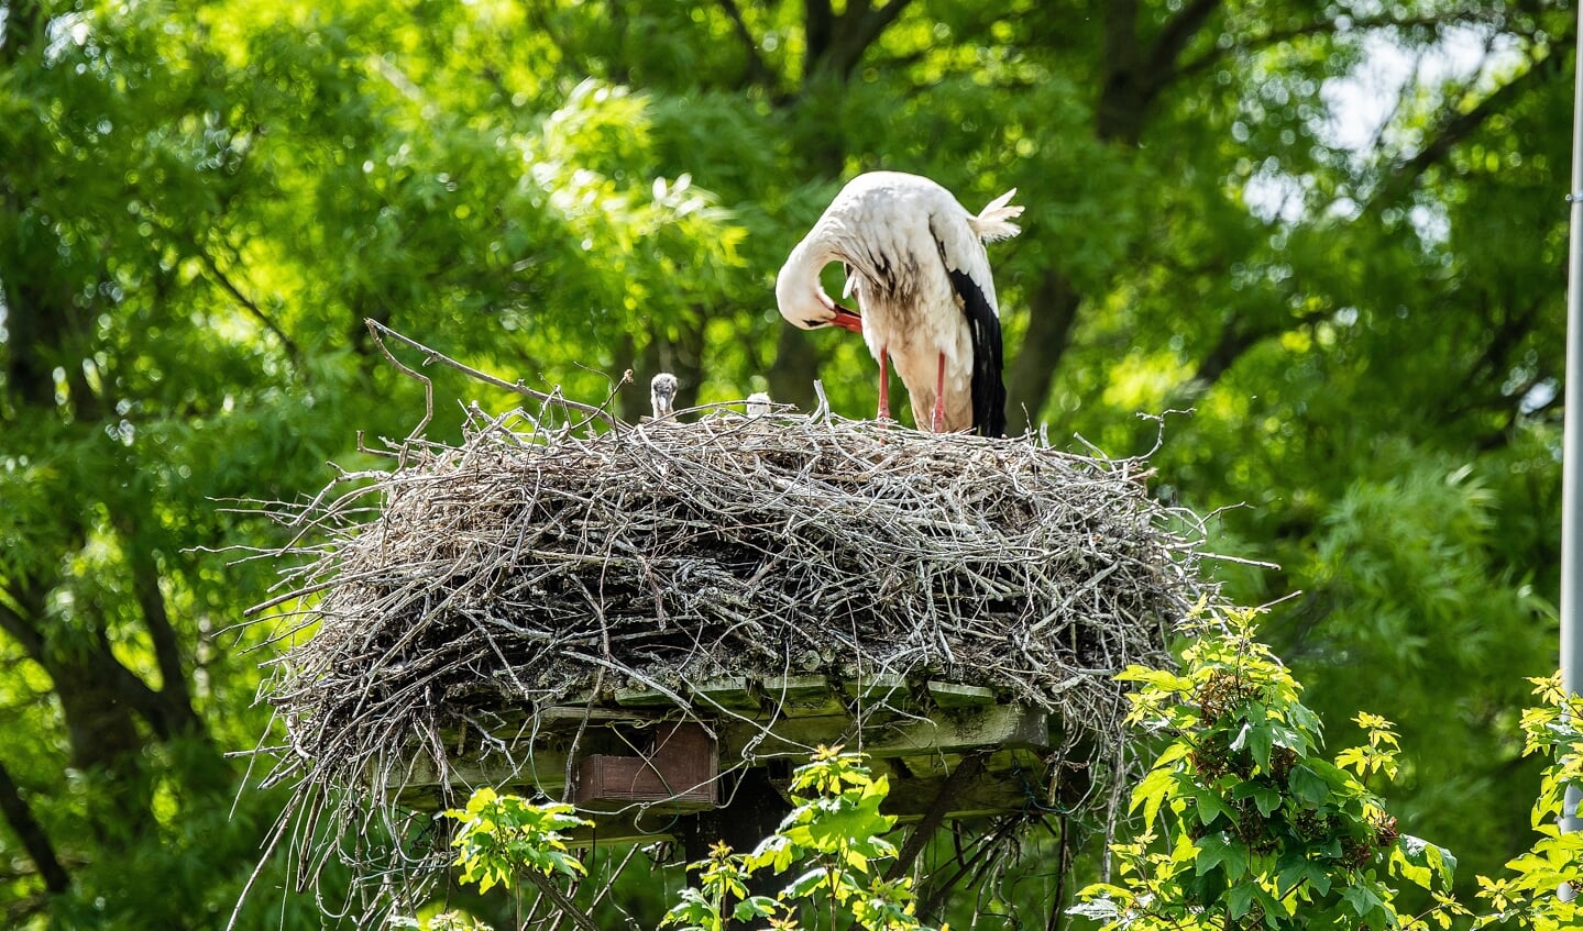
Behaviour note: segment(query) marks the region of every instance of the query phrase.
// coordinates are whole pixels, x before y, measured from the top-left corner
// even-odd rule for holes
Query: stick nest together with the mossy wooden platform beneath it
[[[266,683],[272,779],[313,820],[488,784],[575,801],[584,841],[652,841],[837,743],[905,819],[1103,820],[1113,675],[1168,664],[1203,594],[1201,531],[1143,460],[1032,438],[516,413],[399,455],[277,511],[306,530],[264,605],[301,632]]]

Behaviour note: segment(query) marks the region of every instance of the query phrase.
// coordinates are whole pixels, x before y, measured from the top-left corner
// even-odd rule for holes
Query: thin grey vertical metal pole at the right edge
[[[1583,6],[1578,8],[1583,25]],[[1561,436],[1561,684],[1583,689],[1583,43],[1572,89],[1572,239],[1567,259],[1566,420]],[[1567,789],[1561,830],[1583,830],[1577,789]]]

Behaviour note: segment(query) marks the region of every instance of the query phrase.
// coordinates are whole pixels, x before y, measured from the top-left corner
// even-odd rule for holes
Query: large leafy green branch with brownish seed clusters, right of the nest
[[[1417,838],[1399,844],[1396,820],[1360,781],[1395,773],[1391,724],[1360,714],[1368,743],[1327,760],[1320,721],[1254,639],[1252,612],[1200,610],[1190,629],[1179,673],[1121,677],[1141,684],[1132,721],[1170,743],[1132,793],[1145,835],[1113,847],[1124,884],[1083,890],[1072,914],[1107,929],[1377,931],[1403,920],[1387,866],[1448,890],[1455,858]]]

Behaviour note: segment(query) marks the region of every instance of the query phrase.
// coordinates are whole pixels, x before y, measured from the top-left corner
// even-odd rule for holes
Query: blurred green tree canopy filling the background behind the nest
[[[1403,824],[1493,873],[1556,662],[1575,40],[1547,2],[0,0],[3,923],[228,918],[272,571],[214,550],[421,416],[366,318],[584,400],[863,416],[866,349],[773,281],[875,168],[1019,188],[1013,427],[1124,455],[1192,408],[1159,493],[1281,564],[1219,571],[1301,593],[1266,635],[1308,702],[1399,721]],[[438,436],[510,403],[437,379]]]

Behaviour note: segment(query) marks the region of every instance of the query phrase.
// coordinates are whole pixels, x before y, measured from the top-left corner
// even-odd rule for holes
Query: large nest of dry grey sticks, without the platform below
[[[1111,677],[1168,662],[1203,590],[1201,533],[1141,460],[828,416],[597,435],[518,417],[408,441],[394,471],[290,514],[318,539],[272,604],[298,596],[318,628],[266,691],[302,811],[377,795],[415,752],[446,771],[438,735],[481,713],[720,675],[989,686],[1114,760]]]

